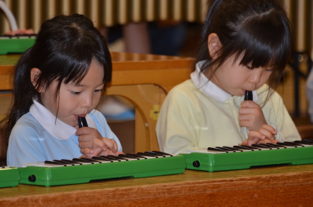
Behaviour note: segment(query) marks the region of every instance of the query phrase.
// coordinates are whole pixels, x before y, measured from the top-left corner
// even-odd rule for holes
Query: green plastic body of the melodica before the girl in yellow
[[[222,154],[193,152],[180,155],[185,157],[187,169],[213,172],[221,170],[248,169],[251,166],[275,164],[312,164],[313,146]],[[198,167],[195,167],[197,164]]]

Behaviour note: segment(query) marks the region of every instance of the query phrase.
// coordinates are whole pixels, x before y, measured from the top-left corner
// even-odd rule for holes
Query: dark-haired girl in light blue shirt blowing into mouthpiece
[[[7,164],[119,154],[119,140],[95,110],[111,73],[105,38],[90,19],[45,21],[15,67],[14,103],[2,130]],[[89,127],[78,128],[79,116]]]

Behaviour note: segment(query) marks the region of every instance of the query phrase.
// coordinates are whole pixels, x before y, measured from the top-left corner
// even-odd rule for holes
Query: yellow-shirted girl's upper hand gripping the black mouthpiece
[[[267,124],[261,107],[253,101],[244,101],[239,109],[239,125],[256,131],[263,124]]]

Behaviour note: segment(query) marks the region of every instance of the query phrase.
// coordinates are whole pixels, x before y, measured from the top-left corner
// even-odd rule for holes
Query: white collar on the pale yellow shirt
[[[200,66],[205,63],[205,60],[200,61],[196,64],[196,70],[190,74],[190,77],[193,83],[200,88],[204,93],[216,99],[218,102],[223,103],[228,98],[232,97],[230,93],[227,93],[222,88],[219,88],[212,81],[208,80],[208,78],[201,73]],[[258,94],[256,91],[252,91],[253,101],[258,101]]]

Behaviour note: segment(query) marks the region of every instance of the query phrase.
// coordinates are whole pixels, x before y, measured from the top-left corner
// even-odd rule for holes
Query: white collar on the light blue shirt
[[[73,126],[65,124],[60,119],[57,119],[46,107],[33,100],[34,104],[31,105],[29,112],[33,117],[55,138],[60,140],[67,140],[72,137],[76,129]],[[97,129],[95,121],[86,114],[88,126]],[[78,122],[77,122],[78,123]]]

